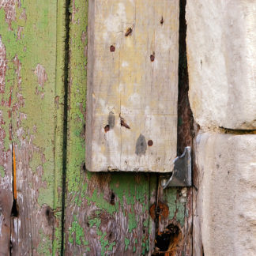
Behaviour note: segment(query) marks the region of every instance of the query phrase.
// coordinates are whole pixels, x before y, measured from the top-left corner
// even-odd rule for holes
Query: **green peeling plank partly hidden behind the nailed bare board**
[[[149,206],[156,199],[156,175],[85,170],[88,2],[73,0],[70,10],[65,254],[149,254],[154,247]]]

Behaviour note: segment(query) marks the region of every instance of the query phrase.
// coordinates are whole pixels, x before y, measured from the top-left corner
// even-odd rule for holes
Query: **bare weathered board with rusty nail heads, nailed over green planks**
[[[89,1],[88,171],[171,171],[178,40],[179,1]]]

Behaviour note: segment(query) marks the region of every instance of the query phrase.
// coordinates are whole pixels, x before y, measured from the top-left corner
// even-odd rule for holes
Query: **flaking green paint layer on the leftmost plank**
[[[58,7],[63,6],[64,3],[64,0],[58,1]],[[9,134],[9,125],[11,119],[13,119],[14,145],[21,152],[24,150],[24,143],[27,143],[27,148],[28,142],[32,145],[33,149],[25,149],[29,158],[28,168],[31,168],[34,175],[37,175],[38,180],[44,183],[43,187],[35,187],[36,184],[28,180],[28,184],[31,184],[30,187],[33,190],[38,189],[38,198],[35,199],[38,200],[39,206],[49,205],[51,209],[57,209],[61,203],[59,191],[62,187],[61,175],[59,175],[62,165],[61,157],[59,157],[62,154],[62,145],[58,144],[58,137],[62,140],[62,134],[56,133],[55,130],[57,117],[61,123],[63,117],[60,115],[61,113],[56,111],[55,92],[59,92],[57,87],[62,88],[63,84],[62,71],[56,74],[56,59],[59,60],[58,56],[60,56],[56,55],[56,50],[60,47],[60,51],[64,52],[64,49],[61,47],[61,43],[58,43],[56,49],[56,43],[57,39],[60,41],[64,39],[57,32],[56,15],[57,17],[60,16],[59,19],[63,21],[64,17],[61,14],[65,9],[58,9],[57,12],[57,3],[54,0],[43,2],[27,0],[21,1],[20,4],[17,4],[13,10],[16,18],[11,23],[12,29],[9,29],[9,24],[6,23],[5,9],[0,8],[0,35],[2,43],[6,46],[8,62],[6,92],[2,95],[2,100],[8,102],[10,92],[12,92],[9,106],[9,110],[12,111],[11,118],[9,118],[6,106],[0,107],[2,118],[6,121],[2,128],[6,131],[6,134]],[[18,37],[20,28],[20,37]],[[20,70],[17,66],[19,62],[21,63]],[[38,64],[43,66],[47,73],[47,80],[44,85],[39,85],[35,73]],[[58,65],[58,69],[62,70],[62,64]],[[17,70],[21,81],[17,77]],[[56,85],[56,80],[61,81],[61,83]],[[60,92],[59,97],[62,98],[62,95],[63,92]],[[17,134],[18,129],[20,129],[20,137]],[[60,145],[58,149],[55,146],[56,141],[57,145]],[[6,136],[4,138],[6,150],[9,149],[10,144],[9,136]],[[17,156],[19,157],[19,155]],[[55,158],[55,156],[57,157]],[[43,167],[42,176],[38,171],[40,166]],[[20,193],[22,192],[21,190]],[[24,200],[27,199],[24,198]],[[24,204],[28,204],[28,201],[24,201]],[[30,221],[32,224],[34,223],[34,219]],[[53,252],[57,253],[61,243],[58,227],[55,228],[54,237],[55,240],[52,241],[54,244]],[[49,247],[52,249],[51,245]]]

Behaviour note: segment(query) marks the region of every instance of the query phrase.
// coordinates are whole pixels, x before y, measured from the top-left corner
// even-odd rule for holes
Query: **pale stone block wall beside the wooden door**
[[[256,255],[256,2],[187,0],[186,22],[194,255]]]

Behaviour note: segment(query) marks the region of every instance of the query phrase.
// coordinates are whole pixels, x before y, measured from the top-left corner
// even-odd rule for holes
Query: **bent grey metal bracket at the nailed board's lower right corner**
[[[173,161],[174,168],[170,179],[164,177],[161,186],[165,189],[168,186],[192,186],[191,178],[191,149],[186,147],[181,156]]]

